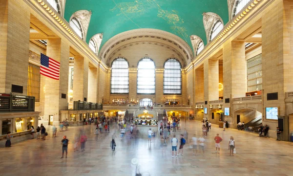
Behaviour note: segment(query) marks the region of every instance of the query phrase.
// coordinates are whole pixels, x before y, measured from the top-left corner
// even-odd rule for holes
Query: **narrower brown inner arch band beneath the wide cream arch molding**
[[[178,52],[175,47],[171,47],[171,46],[166,45],[164,43],[149,42],[149,41],[139,41],[139,42],[127,43],[125,45],[122,45],[122,46],[116,48],[115,51],[113,51],[111,53],[111,55],[109,56],[109,59],[107,60],[106,65],[107,66],[110,66],[111,65],[112,61],[117,58],[117,57],[114,57],[115,54],[119,53],[119,51],[121,51],[123,49],[126,49],[128,47],[131,47],[131,46],[139,45],[139,44],[153,44],[153,45],[157,45],[157,46],[160,46],[160,47],[165,47],[165,48],[173,51],[175,54],[177,54],[179,56],[180,59],[178,59],[177,57],[174,57],[174,58],[176,58],[176,59],[178,59],[180,61],[182,67],[187,66],[187,63],[185,61],[184,55],[182,55],[180,52]],[[170,58],[170,57],[168,57],[168,58]],[[168,58],[166,58],[166,59],[168,59]]]

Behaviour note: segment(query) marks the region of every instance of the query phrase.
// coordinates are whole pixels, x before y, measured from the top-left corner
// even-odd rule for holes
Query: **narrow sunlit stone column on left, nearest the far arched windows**
[[[88,93],[87,101],[97,102],[97,87],[98,87],[98,69],[92,67],[88,69]]]

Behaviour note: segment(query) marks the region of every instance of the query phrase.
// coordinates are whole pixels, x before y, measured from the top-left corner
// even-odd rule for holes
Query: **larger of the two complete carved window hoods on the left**
[[[72,16],[70,17],[70,21],[71,21],[71,19],[73,17],[75,17],[76,19],[78,19],[79,22],[81,23],[82,28],[83,28],[83,34],[84,34],[84,41],[85,41],[86,34],[87,34],[87,29],[88,29],[88,25],[89,25],[89,22],[90,22],[91,11],[87,11],[87,10],[77,11],[74,14],[72,14]]]

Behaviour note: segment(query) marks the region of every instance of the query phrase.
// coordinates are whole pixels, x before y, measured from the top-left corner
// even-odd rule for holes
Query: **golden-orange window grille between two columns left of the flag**
[[[27,95],[40,102],[40,66],[28,63]]]

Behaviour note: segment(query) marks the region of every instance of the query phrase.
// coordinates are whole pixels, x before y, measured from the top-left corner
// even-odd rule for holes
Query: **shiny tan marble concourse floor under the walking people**
[[[293,176],[293,143],[257,137],[256,133],[223,129],[213,125],[206,137],[206,153],[193,155],[189,149],[191,137],[202,135],[201,122],[182,123],[182,130],[175,132],[179,137],[183,129],[188,130],[189,143],[184,155],[171,157],[171,145],[162,145],[159,136],[148,144],[147,138],[116,138],[116,152],[110,150],[110,133],[100,134],[95,140],[94,125],[70,127],[69,131],[49,134],[47,139],[31,139],[11,148],[0,149],[1,176],[131,176],[131,159],[138,158],[143,176]],[[73,151],[74,136],[84,130],[88,140],[85,152]],[[214,136],[223,138],[221,153],[214,154]],[[118,134],[118,132],[117,132]],[[61,159],[63,135],[70,140],[68,158]],[[146,134],[147,135],[147,134]],[[230,156],[228,143],[234,136],[237,154]],[[118,135],[117,135],[118,136]],[[171,137],[171,136],[170,136]]]

